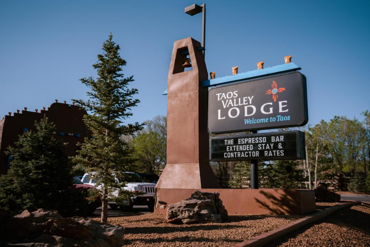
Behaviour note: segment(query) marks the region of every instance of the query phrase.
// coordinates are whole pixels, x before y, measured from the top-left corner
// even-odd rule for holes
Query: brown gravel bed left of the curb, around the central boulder
[[[166,223],[161,215],[148,213],[108,218],[108,223],[125,227],[125,246],[233,246],[299,218],[299,215],[230,215],[223,223],[174,225]]]

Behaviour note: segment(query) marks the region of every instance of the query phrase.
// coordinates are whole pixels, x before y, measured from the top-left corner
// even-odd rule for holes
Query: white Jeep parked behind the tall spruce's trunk
[[[130,178],[126,186],[124,187],[125,190],[131,192],[142,192],[142,195],[135,195],[131,197],[131,200],[128,200],[125,205],[117,205],[112,198],[108,198],[108,205],[112,209],[118,208],[120,206],[121,210],[131,210],[134,205],[147,205],[148,208],[153,211],[154,210],[154,187],[155,184],[147,183],[142,180],[142,178],[135,172],[124,172]],[[121,182],[120,178],[115,178],[117,182]],[[84,184],[89,184],[95,187],[97,181],[91,179],[90,174],[85,173],[82,182]],[[99,185],[98,188],[100,188]],[[118,196],[118,191],[113,192],[114,196]]]

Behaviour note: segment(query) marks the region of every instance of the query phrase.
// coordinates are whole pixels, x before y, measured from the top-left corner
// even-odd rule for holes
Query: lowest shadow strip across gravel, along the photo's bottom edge
[[[167,246],[166,244],[173,243],[175,241],[182,242],[182,243],[192,243],[192,242],[198,242],[198,243],[201,242],[201,243],[205,243],[205,244],[213,243],[214,246],[217,246],[217,243],[220,242],[220,241],[225,241],[225,242],[230,243],[230,246],[232,246],[233,244],[237,244],[237,243],[240,242],[240,240],[232,240],[232,239],[228,239],[228,238],[192,238],[192,237],[149,238],[149,239],[134,238],[134,239],[124,239],[124,245],[134,244],[136,241],[138,241],[141,246],[142,246],[143,243],[147,244],[147,245],[155,244],[155,243],[161,243],[162,245]]]

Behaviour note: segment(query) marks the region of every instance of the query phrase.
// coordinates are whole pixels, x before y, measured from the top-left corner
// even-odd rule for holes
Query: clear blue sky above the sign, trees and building
[[[108,34],[134,75],[141,103],[127,122],[166,115],[167,74],[175,40],[201,41],[193,1],[1,1],[0,116],[58,99],[87,99],[78,80]],[[307,77],[309,123],[370,110],[370,1],[205,1],[206,65],[217,77],[292,62]]]

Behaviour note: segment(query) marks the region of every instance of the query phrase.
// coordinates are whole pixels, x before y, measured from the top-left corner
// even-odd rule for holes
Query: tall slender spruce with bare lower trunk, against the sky
[[[101,221],[108,216],[108,198],[117,202],[126,198],[129,192],[123,190],[124,182],[118,183],[115,177],[124,177],[124,171],[132,168],[131,148],[121,136],[132,135],[142,129],[139,123],[124,125],[124,120],[132,116],[131,108],[138,99],[132,99],[137,89],[129,89],[128,83],[134,81],[130,76],[124,78],[122,66],[126,61],[118,53],[120,46],[112,41],[112,34],[103,43],[103,54],[98,55],[98,62],[92,65],[97,69],[98,77],[80,79],[88,88],[88,101],[73,101],[82,105],[90,114],[84,116],[84,122],[90,129],[91,138],[85,138],[80,144],[78,155],[73,159],[77,167],[83,167],[97,181],[98,193],[102,200]],[[119,191],[119,197],[112,193]],[[94,190],[91,190],[94,193]],[[92,194],[92,198],[96,195]]]

